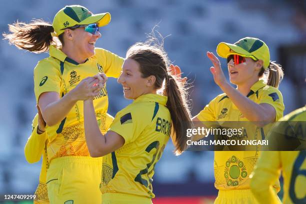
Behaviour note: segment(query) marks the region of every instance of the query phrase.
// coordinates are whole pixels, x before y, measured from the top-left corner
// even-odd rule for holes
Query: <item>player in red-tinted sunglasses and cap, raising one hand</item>
[[[207,52],[213,63],[210,72],[224,93],[212,99],[193,121],[252,121],[253,131],[247,138],[262,139],[270,122],[283,114],[283,100],[278,84],[283,76],[280,66],[270,61],[269,49],[260,39],[245,37],[234,44],[221,42],[217,54],[227,58],[229,80],[226,80],[219,59]],[[266,81],[264,80],[266,76]],[[259,151],[215,151],[215,187],[219,190],[214,203],[255,203],[250,190],[249,174]],[[279,182],[273,185],[279,190]]]

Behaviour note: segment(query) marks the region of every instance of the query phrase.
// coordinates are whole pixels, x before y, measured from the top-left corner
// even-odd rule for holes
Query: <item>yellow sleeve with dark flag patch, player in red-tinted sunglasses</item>
[[[267,103],[274,107],[276,111],[275,120],[279,120],[283,116],[284,104],[280,91],[272,86],[263,87],[258,95],[259,104]]]

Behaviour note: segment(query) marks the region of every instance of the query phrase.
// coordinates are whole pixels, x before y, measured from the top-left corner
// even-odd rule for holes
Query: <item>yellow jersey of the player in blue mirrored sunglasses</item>
[[[108,77],[118,77],[123,63],[123,58],[102,48],[95,48],[95,54],[81,64],[67,57],[55,46],[50,46],[49,54],[49,57],[40,60],[34,68],[36,102],[39,95],[47,91],[55,91],[62,97],[79,81],[97,72],[104,72]],[[98,123],[104,125],[108,107],[106,86],[94,98],[93,105]],[[77,101],[61,122],[46,126],[49,161],[60,156],[89,156],[83,126],[83,101]],[[100,129],[105,129],[105,126],[100,126]]]

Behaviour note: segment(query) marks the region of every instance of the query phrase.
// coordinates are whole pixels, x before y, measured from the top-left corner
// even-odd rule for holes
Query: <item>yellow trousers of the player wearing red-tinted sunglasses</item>
[[[219,190],[214,204],[254,204],[258,203],[250,189]]]

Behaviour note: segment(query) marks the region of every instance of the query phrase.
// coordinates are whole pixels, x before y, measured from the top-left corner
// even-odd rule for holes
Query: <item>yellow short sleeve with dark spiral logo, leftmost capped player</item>
[[[34,92],[36,102],[43,92],[54,91],[60,94],[61,75],[58,67],[41,60],[34,68]]]

